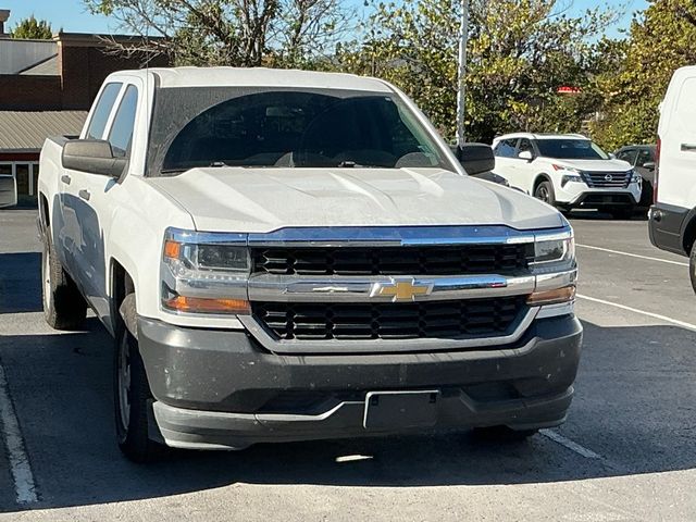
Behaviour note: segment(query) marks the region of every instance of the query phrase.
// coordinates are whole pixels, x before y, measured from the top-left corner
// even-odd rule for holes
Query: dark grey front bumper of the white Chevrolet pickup
[[[278,356],[245,332],[140,318],[154,396],[151,437],[173,447],[239,449],[262,442],[345,438],[566,419],[582,326],[573,315],[533,323],[514,345],[437,353]],[[365,428],[370,391],[439,393],[427,427]]]

